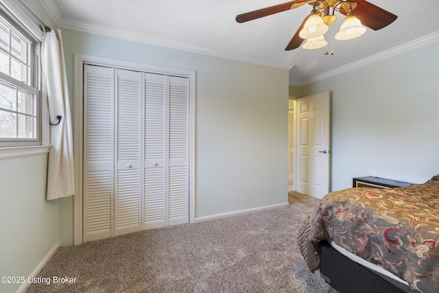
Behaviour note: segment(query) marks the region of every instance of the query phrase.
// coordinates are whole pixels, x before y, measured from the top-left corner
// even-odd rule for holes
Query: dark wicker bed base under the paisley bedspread
[[[328,242],[320,242],[320,275],[340,293],[419,293],[348,259]]]

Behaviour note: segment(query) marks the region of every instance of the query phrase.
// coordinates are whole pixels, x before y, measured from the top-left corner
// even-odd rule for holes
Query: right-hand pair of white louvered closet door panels
[[[189,222],[189,79],[145,74],[144,227]]]

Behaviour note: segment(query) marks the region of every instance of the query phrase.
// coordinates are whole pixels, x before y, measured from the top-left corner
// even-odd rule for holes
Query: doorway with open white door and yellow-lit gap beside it
[[[296,194],[322,198],[329,192],[329,91],[308,97],[289,96],[288,201]]]

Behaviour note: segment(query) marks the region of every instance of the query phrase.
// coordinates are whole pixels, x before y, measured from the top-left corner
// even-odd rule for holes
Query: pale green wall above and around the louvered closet
[[[287,202],[287,70],[74,30],[62,38],[71,97],[73,54],[196,71],[196,218]],[[73,200],[60,211],[60,243],[73,244]]]

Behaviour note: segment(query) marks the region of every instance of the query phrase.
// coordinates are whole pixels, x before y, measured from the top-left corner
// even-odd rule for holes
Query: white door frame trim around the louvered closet
[[[189,78],[189,222],[195,222],[195,71],[148,65],[84,54],[74,55],[74,132],[75,195],[73,196],[73,243],[82,244],[82,170],[84,126],[84,64],[147,71]]]

